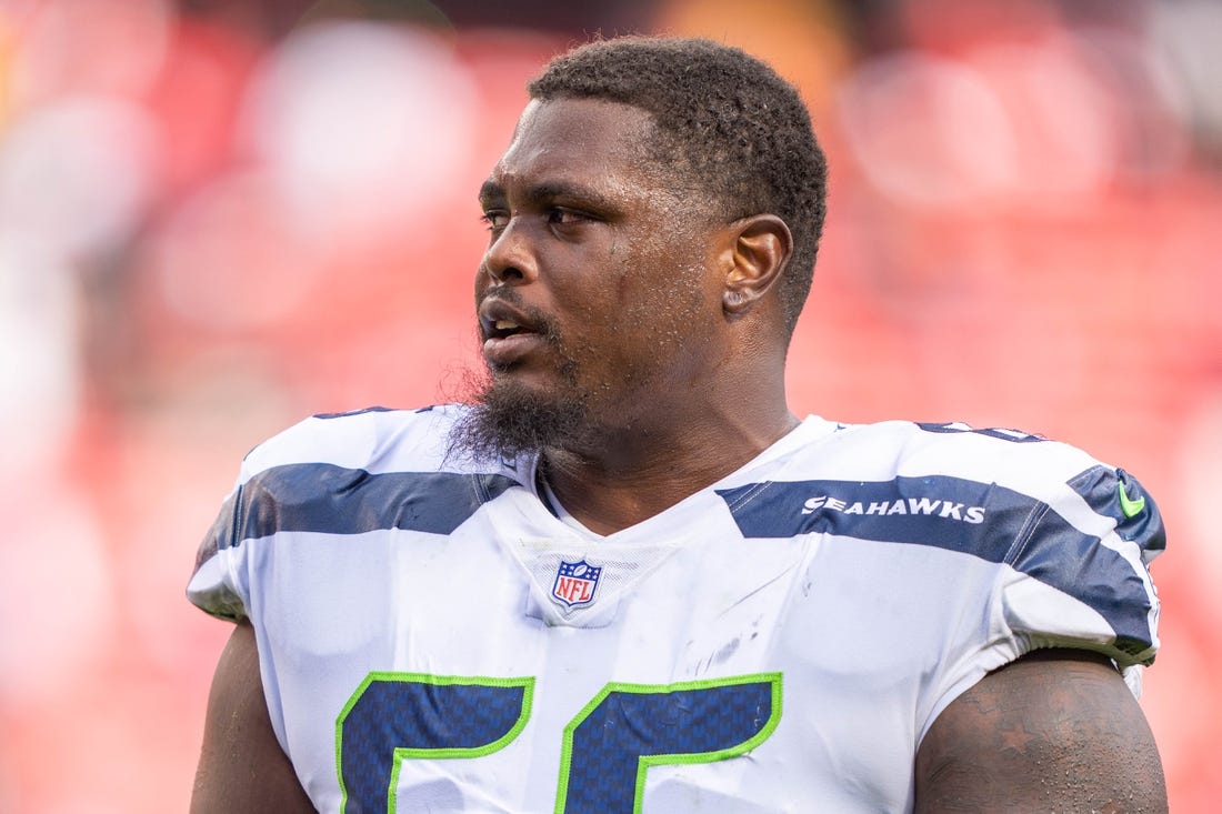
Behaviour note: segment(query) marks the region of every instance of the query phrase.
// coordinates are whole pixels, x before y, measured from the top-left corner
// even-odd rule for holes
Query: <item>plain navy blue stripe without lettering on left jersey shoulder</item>
[[[450,534],[480,505],[514,485],[500,474],[387,472],[330,463],[273,467],[246,482],[221,508],[198,561],[216,549],[277,532],[363,534],[406,529]]]

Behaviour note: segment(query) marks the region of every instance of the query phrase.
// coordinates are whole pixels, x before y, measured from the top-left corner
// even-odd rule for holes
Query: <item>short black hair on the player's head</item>
[[[827,160],[797,88],[745,51],[698,38],[618,37],[554,59],[530,97],[605,99],[649,112],[656,158],[708,192],[727,220],[774,214],[793,235],[781,281],[789,332],[810,291],[824,229]]]

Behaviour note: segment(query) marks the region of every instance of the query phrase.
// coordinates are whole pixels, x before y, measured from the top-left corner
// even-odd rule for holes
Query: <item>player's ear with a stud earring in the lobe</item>
[[[727,315],[739,317],[780,281],[793,253],[793,236],[776,215],[742,218],[728,230],[721,303]]]

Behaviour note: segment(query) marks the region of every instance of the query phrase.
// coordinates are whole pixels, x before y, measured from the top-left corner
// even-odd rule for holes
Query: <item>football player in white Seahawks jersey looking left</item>
[[[1138,480],[789,411],[825,176],[741,50],[546,67],[479,193],[474,403],[304,420],[204,540],[194,810],[1166,808]]]

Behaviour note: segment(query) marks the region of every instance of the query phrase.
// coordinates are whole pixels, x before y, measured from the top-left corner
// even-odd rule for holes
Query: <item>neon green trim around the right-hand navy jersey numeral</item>
[[[711,687],[736,687],[738,684],[758,684],[763,682],[769,682],[772,687],[772,704],[771,711],[769,714],[767,721],[764,724],[763,728],[754,736],[743,741],[737,746],[728,747],[726,749],[716,749],[714,752],[695,752],[695,753],[681,753],[681,754],[655,754],[655,755],[640,755],[637,758],[637,787],[633,796],[632,810],[633,814],[642,814],[642,805],[645,798],[645,771],[649,766],[660,765],[679,765],[679,764],[697,764],[697,763],[716,763],[719,760],[728,760],[730,758],[737,758],[741,754],[750,752],[760,743],[766,741],[776,727],[781,722],[781,675],[780,672],[761,672],[750,676],[730,676],[727,678],[710,678],[705,681],[681,681],[673,684],[627,684],[627,683],[609,683],[595,695],[589,704],[582,708],[573,720],[568,722],[565,727],[565,741],[561,748],[560,757],[560,782],[556,787],[556,808],[555,814],[565,814],[565,801],[568,797],[568,772],[573,764],[573,733],[577,727],[580,726],[590,713],[599,708],[607,695],[611,693],[643,693],[649,695],[660,695],[672,692],[683,692],[688,689],[706,689]]]

